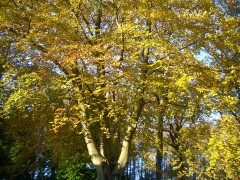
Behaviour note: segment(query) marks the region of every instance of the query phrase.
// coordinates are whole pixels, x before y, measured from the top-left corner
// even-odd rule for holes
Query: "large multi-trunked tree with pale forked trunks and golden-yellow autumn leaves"
[[[41,145],[42,130],[44,145],[64,149],[53,137],[73,132],[67,141],[84,138],[86,149],[81,140],[66,149],[87,151],[99,180],[121,179],[131,145],[152,130],[156,143],[164,128],[177,131],[177,141],[183,121],[200,122],[230,99],[236,114],[238,64],[226,66],[225,80],[238,82],[232,94],[220,92],[228,84],[222,62],[239,50],[238,19],[220,1],[7,0],[0,7],[1,58],[15,68],[3,77],[14,89],[3,113],[16,132],[36,137],[20,138],[20,147]],[[162,145],[153,148],[161,156]]]

